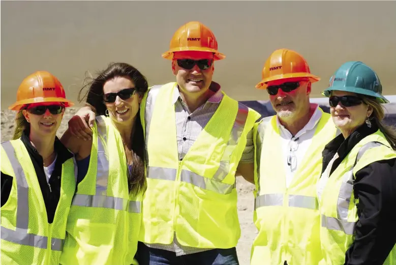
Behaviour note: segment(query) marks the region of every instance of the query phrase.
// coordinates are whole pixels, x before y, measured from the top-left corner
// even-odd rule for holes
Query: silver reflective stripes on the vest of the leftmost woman
[[[12,169],[14,170],[15,179],[17,183],[17,209],[16,209],[16,229],[11,230],[6,227],[1,227],[1,239],[13,242],[19,245],[32,246],[36,248],[47,248],[48,238],[43,235],[37,235],[27,232],[29,222],[29,200],[28,200],[28,184],[22,166],[15,156],[14,146],[10,141],[2,143],[4,151],[10,160]],[[52,250],[62,250],[63,240],[53,238],[53,241],[60,241],[60,245],[51,245]]]

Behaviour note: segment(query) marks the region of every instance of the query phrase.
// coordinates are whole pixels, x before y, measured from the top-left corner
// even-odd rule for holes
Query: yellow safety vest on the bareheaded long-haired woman
[[[141,194],[128,191],[124,144],[110,118],[97,116],[92,129],[89,167],[72,201],[60,264],[136,264]]]

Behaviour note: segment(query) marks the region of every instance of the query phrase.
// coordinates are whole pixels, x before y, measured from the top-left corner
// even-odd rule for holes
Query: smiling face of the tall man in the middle
[[[200,69],[196,64],[192,69],[186,69],[177,63],[177,60],[183,59],[209,60],[211,65],[207,69]],[[214,71],[215,66],[211,52],[179,51],[173,55],[172,72],[176,76],[176,82],[182,93],[203,95],[209,89]]]

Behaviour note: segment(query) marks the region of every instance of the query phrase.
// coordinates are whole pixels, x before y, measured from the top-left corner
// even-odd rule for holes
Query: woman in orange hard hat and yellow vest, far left
[[[46,71],[17,91],[13,139],[1,147],[1,263],[58,264],[75,191],[74,156],[56,137],[66,99]]]

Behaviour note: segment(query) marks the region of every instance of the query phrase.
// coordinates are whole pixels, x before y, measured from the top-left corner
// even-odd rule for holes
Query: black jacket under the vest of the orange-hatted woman
[[[41,193],[44,198],[48,223],[52,223],[60,197],[60,177],[62,175],[62,164],[65,163],[66,160],[72,158],[73,154],[65,147],[65,145],[62,144],[62,142],[60,142],[57,137],[55,138],[54,151],[57,154],[57,158],[51,178],[49,179],[49,183],[47,183],[47,178],[44,173],[43,158],[29,140],[28,130],[23,132],[21,140],[25,145],[27,152],[29,153],[33,166],[35,167]],[[1,172],[1,185],[1,205],[3,206],[10,196],[12,188],[12,176]]]

